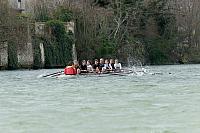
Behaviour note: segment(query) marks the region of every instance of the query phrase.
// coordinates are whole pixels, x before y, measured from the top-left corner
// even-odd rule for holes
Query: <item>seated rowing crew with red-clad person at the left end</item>
[[[81,73],[109,73],[109,72],[119,72],[122,69],[121,63],[118,59],[106,59],[100,60],[95,59],[94,64],[90,60],[83,60],[81,65],[78,61],[69,62],[68,66],[65,68],[65,75],[76,75]]]

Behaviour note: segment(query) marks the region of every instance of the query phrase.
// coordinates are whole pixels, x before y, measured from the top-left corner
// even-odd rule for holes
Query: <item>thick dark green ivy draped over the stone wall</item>
[[[51,34],[44,38],[45,67],[64,67],[72,60],[74,35],[66,33],[64,23],[59,20],[46,22]]]

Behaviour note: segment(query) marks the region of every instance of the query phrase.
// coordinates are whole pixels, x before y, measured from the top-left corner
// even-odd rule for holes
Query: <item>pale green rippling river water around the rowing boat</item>
[[[200,133],[200,65],[149,69],[67,79],[0,71],[0,132]]]

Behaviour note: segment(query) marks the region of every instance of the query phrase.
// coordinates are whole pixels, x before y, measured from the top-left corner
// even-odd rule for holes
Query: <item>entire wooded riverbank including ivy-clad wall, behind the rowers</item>
[[[187,4],[192,4],[190,10]],[[73,60],[73,44],[79,60],[198,64],[199,5],[181,0],[30,0],[22,10],[0,0],[0,68],[62,68]]]

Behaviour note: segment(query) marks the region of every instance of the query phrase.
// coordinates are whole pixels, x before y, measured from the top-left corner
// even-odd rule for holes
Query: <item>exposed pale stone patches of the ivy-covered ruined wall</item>
[[[27,30],[27,34],[23,37],[19,37],[20,39],[25,38],[26,41],[21,41],[20,45],[17,45],[17,59],[18,65],[20,68],[31,68],[34,64],[34,51],[33,51],[33,44],[31,43],[31,34],[30,34],[30,27],[28,26],[25,28]],[[65,24],[65,30],[67,32],[71,31],[74,33],[74,22],[68,22]],[[45,23],[36,22],[35,23],[35,34],[43,36],[45,34]],[[44,53],[44,44],[40,42],[39,44],[40,54],[41,54],[41,62],[42,66],[45,64],[45,53]],[[76,48],[75,44],[73,44],[73,58],[76,59]],[[0,45],[0,69],[7,68],[8,65],[8,44],[5,42]]]

